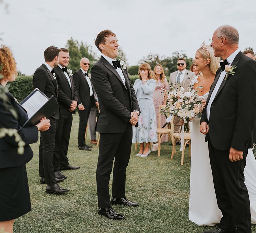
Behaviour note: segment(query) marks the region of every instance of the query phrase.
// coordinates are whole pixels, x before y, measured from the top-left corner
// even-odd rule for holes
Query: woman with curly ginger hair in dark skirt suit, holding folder
[[[15,80],[16,74],[16,62],[5,46],[0,48],[0,67],[0,86],[5,87]],[[0,138],[0,230],[13,232],[15,218],[31,210],[26,171],[26,163],[33,157],[29,144],[37,142],[39,130],[49,129],[50,120],[44,118],[35,126],[23,128],[28,119],[26,111],[9,92],[5,97],[0,99],[0,128],[16,129],[23,141],[17,142],[14,135]],[[23,154],[18,153],[20,143],[24,144]]]

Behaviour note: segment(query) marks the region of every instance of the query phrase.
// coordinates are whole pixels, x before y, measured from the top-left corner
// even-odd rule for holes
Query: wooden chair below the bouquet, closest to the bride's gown
[[[174,153],[176,154],[176,149],[175,149],[176,141],[180,140],[180,143],[182,143],[181,142],[181,133],[180,132],[179,133],[174,132],[173,118],[172,118],[172,123],[171,123],[171,130],[172,130],[172,156],[171,156],[171,159],[173,159]],[[186,144],[189,145],[189,157],[190,157],[191,156],[191,135],[190,135],[190,132],[184,133],[184,144],[181,145],[181,146],[183,146],[183,150],[181,152],[181,165],[183,165],[183,161],[184,161],[184,150],[186,148]]]

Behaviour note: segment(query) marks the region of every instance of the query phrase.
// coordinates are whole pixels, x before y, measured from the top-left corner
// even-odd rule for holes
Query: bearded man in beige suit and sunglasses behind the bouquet
[[[174,86],[180,85],[185,89],[188,89],[191,79],[196,75],[194,72],[186,70],[185,58],[178,58],[177,60],[177,71],[170,74],[169,84],[173,83]],[[174,132],[179,132],[179,120],[180,118],[174,117]]]

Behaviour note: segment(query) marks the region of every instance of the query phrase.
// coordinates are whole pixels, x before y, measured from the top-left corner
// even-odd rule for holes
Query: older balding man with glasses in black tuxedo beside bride
[[[214,56],[224,61],[211,86],[200,131],[208,141],[213,183],[223,217],[219,228],[204,233],[251,233],[244,167],[256,132],[256,62],[242,54],[238,41],[239,34],[232,26],[221,26],[212,36]]]

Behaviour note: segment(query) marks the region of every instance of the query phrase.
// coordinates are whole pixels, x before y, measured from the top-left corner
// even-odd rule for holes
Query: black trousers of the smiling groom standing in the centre
[[[114,159],[112,196],[125,197],[126,167],[132,145],[132,125],[127,123],[126,130],[122,133],[100,133],[99,145],[96,171],[98,206],[109,208],[111,201],[108,186]]]

